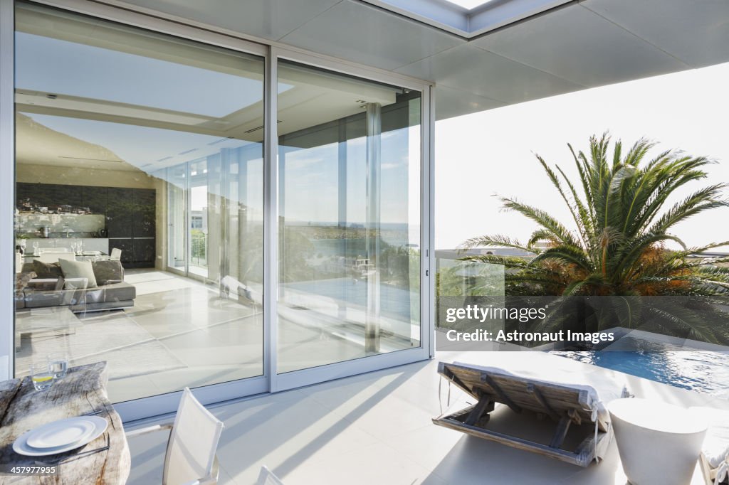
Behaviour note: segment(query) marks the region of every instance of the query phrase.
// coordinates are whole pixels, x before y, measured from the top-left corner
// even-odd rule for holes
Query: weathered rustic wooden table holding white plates
[[[0,382],[0,464],[39,466],[36,461],[50,464],[61,459],[58,476],[0,476],[0,484],[125,484],[129,446],[122,420],[106,397],[107,381],[106,362],[97,362],[70,368],[43,393],[34,390],[29,377]],[[25,457],[12,450],[13,441],[34,427],[96,411],[109,427],[79,449],[50,457]]]

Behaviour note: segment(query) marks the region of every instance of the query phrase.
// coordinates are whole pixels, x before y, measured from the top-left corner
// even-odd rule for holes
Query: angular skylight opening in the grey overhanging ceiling
[[[364,0],[471,39],[572,0]]]

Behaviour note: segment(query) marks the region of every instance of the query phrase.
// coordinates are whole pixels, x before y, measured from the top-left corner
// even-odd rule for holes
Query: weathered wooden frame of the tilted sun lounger
[[[574,451],[561,449],[572,423],[575,425],[592,423],[590,409],[593,409],[596,403],[593,402],[593,396],[588,390],[498,371],[486,371],[463,364],[441,362],[438,364],[438,373],[472,395],[477,403],[448,416],[433,418],[436,425],[582,467],[588,466],[595,459],[596,446],[602,440],[610,439],[608,423],[598,419],[597,441],[595,428],[592,425],[577,449]],[[503,403],[517,413],[526,409],[553,419],[556,426],[550,443],[537,443],[486,429],[489,413],[494,411],[495,403]]]

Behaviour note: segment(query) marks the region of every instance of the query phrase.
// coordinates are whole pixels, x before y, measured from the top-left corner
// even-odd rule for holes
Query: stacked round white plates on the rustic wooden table
[[[50,422],[20,435],[12,449],[28,457],[69,452],[95,440],[106,431],[106,419],[79,416]]]

